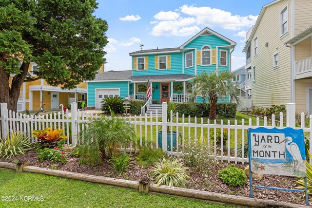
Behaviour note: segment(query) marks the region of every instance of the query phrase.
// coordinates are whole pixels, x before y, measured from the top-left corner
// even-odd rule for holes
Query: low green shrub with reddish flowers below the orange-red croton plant
[[[40,161],[51,160],[53,162],[65,163],[67,161],[67,154],[68,151],[64,151],[63,149],[59,149],[57,147],[54,149],[44,148],[39,150],[38,157]]]

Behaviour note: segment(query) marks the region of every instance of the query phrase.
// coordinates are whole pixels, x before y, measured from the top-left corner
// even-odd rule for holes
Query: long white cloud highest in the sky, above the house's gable
[[[232,15],[231,12],[208,6],[183,5],[179,8],[182,13],[195,16],[196,24],[203,24],[208,27],[219,26],[223,29],[241,30],[242,27],[251,27],[257,19],[257,16]]]

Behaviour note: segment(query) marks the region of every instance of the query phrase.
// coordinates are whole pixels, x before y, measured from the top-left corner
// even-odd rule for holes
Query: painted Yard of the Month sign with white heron
[[[298,177],[306,175],[302,129],[249,129],[249,144],[252,172]]]

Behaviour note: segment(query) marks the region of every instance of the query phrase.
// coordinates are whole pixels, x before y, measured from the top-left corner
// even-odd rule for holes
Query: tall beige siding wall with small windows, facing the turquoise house
[[[288,6],[288,34],[280,38],[280,13]],[[283,0],[266,8],[252,37],[253,105],[269,107],[290,102],[290,49],[284,45],[292,34],[291,0]],[[254,57],[254,38],[258,37],[258,55]],[[268,47],[265,44],[268,43]],[[273,55],[279,54],[279,67],[273,68]],[[253,73],[252,73],[253,75]]]

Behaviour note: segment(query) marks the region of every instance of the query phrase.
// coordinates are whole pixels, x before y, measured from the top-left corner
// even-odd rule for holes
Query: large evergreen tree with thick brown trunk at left
[[[95,78],[108,42],[107,22],[93,16],[97,5],[96,0],[0,0],[0,103],[16,111],[25,81],[43,78],[72,89]],[[38,77],[26,77],[30,62],[38,64]]]

